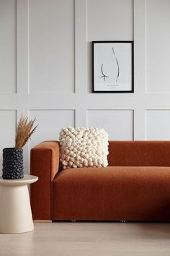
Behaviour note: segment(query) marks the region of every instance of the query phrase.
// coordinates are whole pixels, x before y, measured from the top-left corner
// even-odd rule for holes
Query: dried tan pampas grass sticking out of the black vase
[[[24,147],[37,129],[37,126],[33,127],[34,123],[35,119],[28,120],[26,116],[20,117],[16,130],[15,148],[19,149]]]

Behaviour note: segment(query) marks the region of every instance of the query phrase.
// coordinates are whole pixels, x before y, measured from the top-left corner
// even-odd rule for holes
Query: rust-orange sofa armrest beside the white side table
[[[30,200],[34,220],[51,220],[52,189],[51,182],[59,168],[59,142],[45,141],[32,148],[30,155],[30,173],[38,176],[31,185]]]

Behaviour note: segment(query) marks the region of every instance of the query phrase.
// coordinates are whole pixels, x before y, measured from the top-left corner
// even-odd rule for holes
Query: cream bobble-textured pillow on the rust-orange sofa
[[[63,128],[60,132],[60,163],[63,169],[108,165],[108,135],[98,128]]]

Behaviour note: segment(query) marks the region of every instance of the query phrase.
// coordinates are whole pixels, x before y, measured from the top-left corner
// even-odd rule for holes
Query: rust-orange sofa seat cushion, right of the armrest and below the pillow
[[[170,220],[170,167],[71,168],[52,186],[53,220]]]

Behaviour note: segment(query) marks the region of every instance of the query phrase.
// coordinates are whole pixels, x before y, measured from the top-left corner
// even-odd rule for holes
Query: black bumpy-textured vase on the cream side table
[[[2,177],[4,179],[22,179],[24,177],[22,148],[3,149]]]

